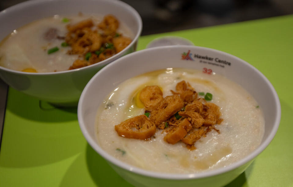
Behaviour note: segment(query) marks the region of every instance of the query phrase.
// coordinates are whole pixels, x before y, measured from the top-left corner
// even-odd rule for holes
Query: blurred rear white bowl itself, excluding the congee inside
[[[0,77],[9,86],[38,99],[58,105],[77,105],[90,78],[113,60],[134,52],[141,34],[142,21],[135,9],[117,0],[33,0],[0,12],[0,41],[13,30],[34,20],[54,15],[96,13],[113,14],[134,33],[134,39],[123,51],[93,65],[53,73],[26,73],[0,67]]]

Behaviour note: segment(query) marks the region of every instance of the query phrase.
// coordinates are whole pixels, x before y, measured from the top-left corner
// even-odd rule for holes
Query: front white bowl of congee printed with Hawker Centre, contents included
[[[78,104],[87,142],[134,186],[228,184],[269,145],[280,112],[255,67],[196,46],[123,56],[93,76]]]

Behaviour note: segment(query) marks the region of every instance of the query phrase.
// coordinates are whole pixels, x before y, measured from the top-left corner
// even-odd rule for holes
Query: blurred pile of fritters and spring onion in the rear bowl
[[[94,25],[93,20],[87,19],[68,24],[65,37],[66,46],[70,46],[68,54],[78,54],[69,70],[89,66],[103,61],[122,51],[131,43],[131,39],[117,33],[119,21],[113,15]]]

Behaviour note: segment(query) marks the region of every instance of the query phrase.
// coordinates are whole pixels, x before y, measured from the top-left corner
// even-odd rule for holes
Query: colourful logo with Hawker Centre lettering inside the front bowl
[[[203,56],[203,55],[199,55],[199,54],[194,54],[192,56],[192,53],[190,53],[190,50],[188,50],[188,52],[183,52],[181,54],[181,59],[182,60],[192,60],[192,61],[194,61],[193,58],[200,59],[200,63],[208,63],[208,64],[211,64],[211,65],[216,65],[216,66],[221,66],[221,67],[224,67],[224,65],[231,66],[231,62],[228,62],[226,60],[220,59],[218,57],[214,58],[214,57],[210,57],[210,56],[207,56],[207,55]]]

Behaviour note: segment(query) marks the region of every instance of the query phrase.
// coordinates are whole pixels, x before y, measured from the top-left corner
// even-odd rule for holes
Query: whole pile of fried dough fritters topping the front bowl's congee
[[[170,144],[179,141],[193,150],[193,145],[201,137],[215,130],[215,124],[223,121],[220,107],[207,102],[212,99],[211,93],[206,93],[205,99],[198,98],[198,93],[185,81],[176,85],[176,92],[163,98],[159,86],[146,86],[139,94],[144,104],[145,114],[132,117],[115,125],[118,135],[125,138],[149,139],[157,129],[163,129],[164,140]],[[200,92],[202,93],[202,92]],[[200,94],[204,95],[204,94]]]

